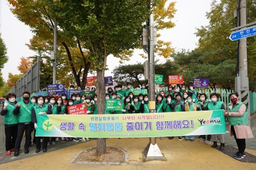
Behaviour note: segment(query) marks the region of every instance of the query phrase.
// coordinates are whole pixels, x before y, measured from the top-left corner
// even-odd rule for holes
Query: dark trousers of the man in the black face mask
[[[31,124],[24,124],[24,123],[18,123],[18,134],[17,138],[15,141],[15,152],[18,152],[20,149],[20,143],[23,138],[23,134],[26,134],[26,141],[24,145],[24,149],[27,150],[28,147],[30,147],[30,142],[31,142]]]

